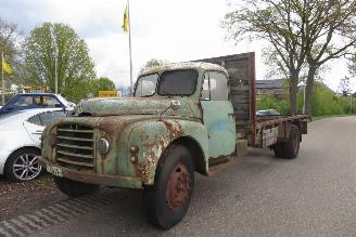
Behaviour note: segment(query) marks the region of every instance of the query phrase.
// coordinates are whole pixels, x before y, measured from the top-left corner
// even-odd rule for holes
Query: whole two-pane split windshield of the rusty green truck
[[[192,95],[196,87],[198,71],[169,70],[164,71],[160,77],[157,74],[142,76],[137,81],[135,96],[153,95],[156,92],[157,80],[160,95]]]

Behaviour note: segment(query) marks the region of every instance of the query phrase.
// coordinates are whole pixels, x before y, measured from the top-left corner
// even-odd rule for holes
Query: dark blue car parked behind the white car
[[[31,108],[65,108],[73,110],[74,103],[67,102],[62,95],[53,93],[24,93],[13,96],[0,108],[0,116]]]

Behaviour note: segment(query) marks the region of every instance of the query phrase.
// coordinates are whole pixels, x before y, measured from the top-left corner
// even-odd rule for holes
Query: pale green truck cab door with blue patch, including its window
[[[204,74],[201,105],[209,158],[231,155],[236,149],[236,122],[228,96],[228,78],[224,73]]]

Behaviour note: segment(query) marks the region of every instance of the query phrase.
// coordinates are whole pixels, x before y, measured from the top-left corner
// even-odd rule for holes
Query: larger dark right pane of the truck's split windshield
[[[160,95],[192,95],[195,91],[198,71],[170,70],[164,71],[160,79]]]

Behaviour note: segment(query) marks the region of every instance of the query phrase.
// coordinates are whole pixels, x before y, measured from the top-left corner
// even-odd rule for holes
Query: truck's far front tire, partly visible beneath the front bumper
[[[56,187],[65,195],[71,197],[80,197],[91,194],[98,189],[98,185],[72,181],[65,177],[53,176]]]

